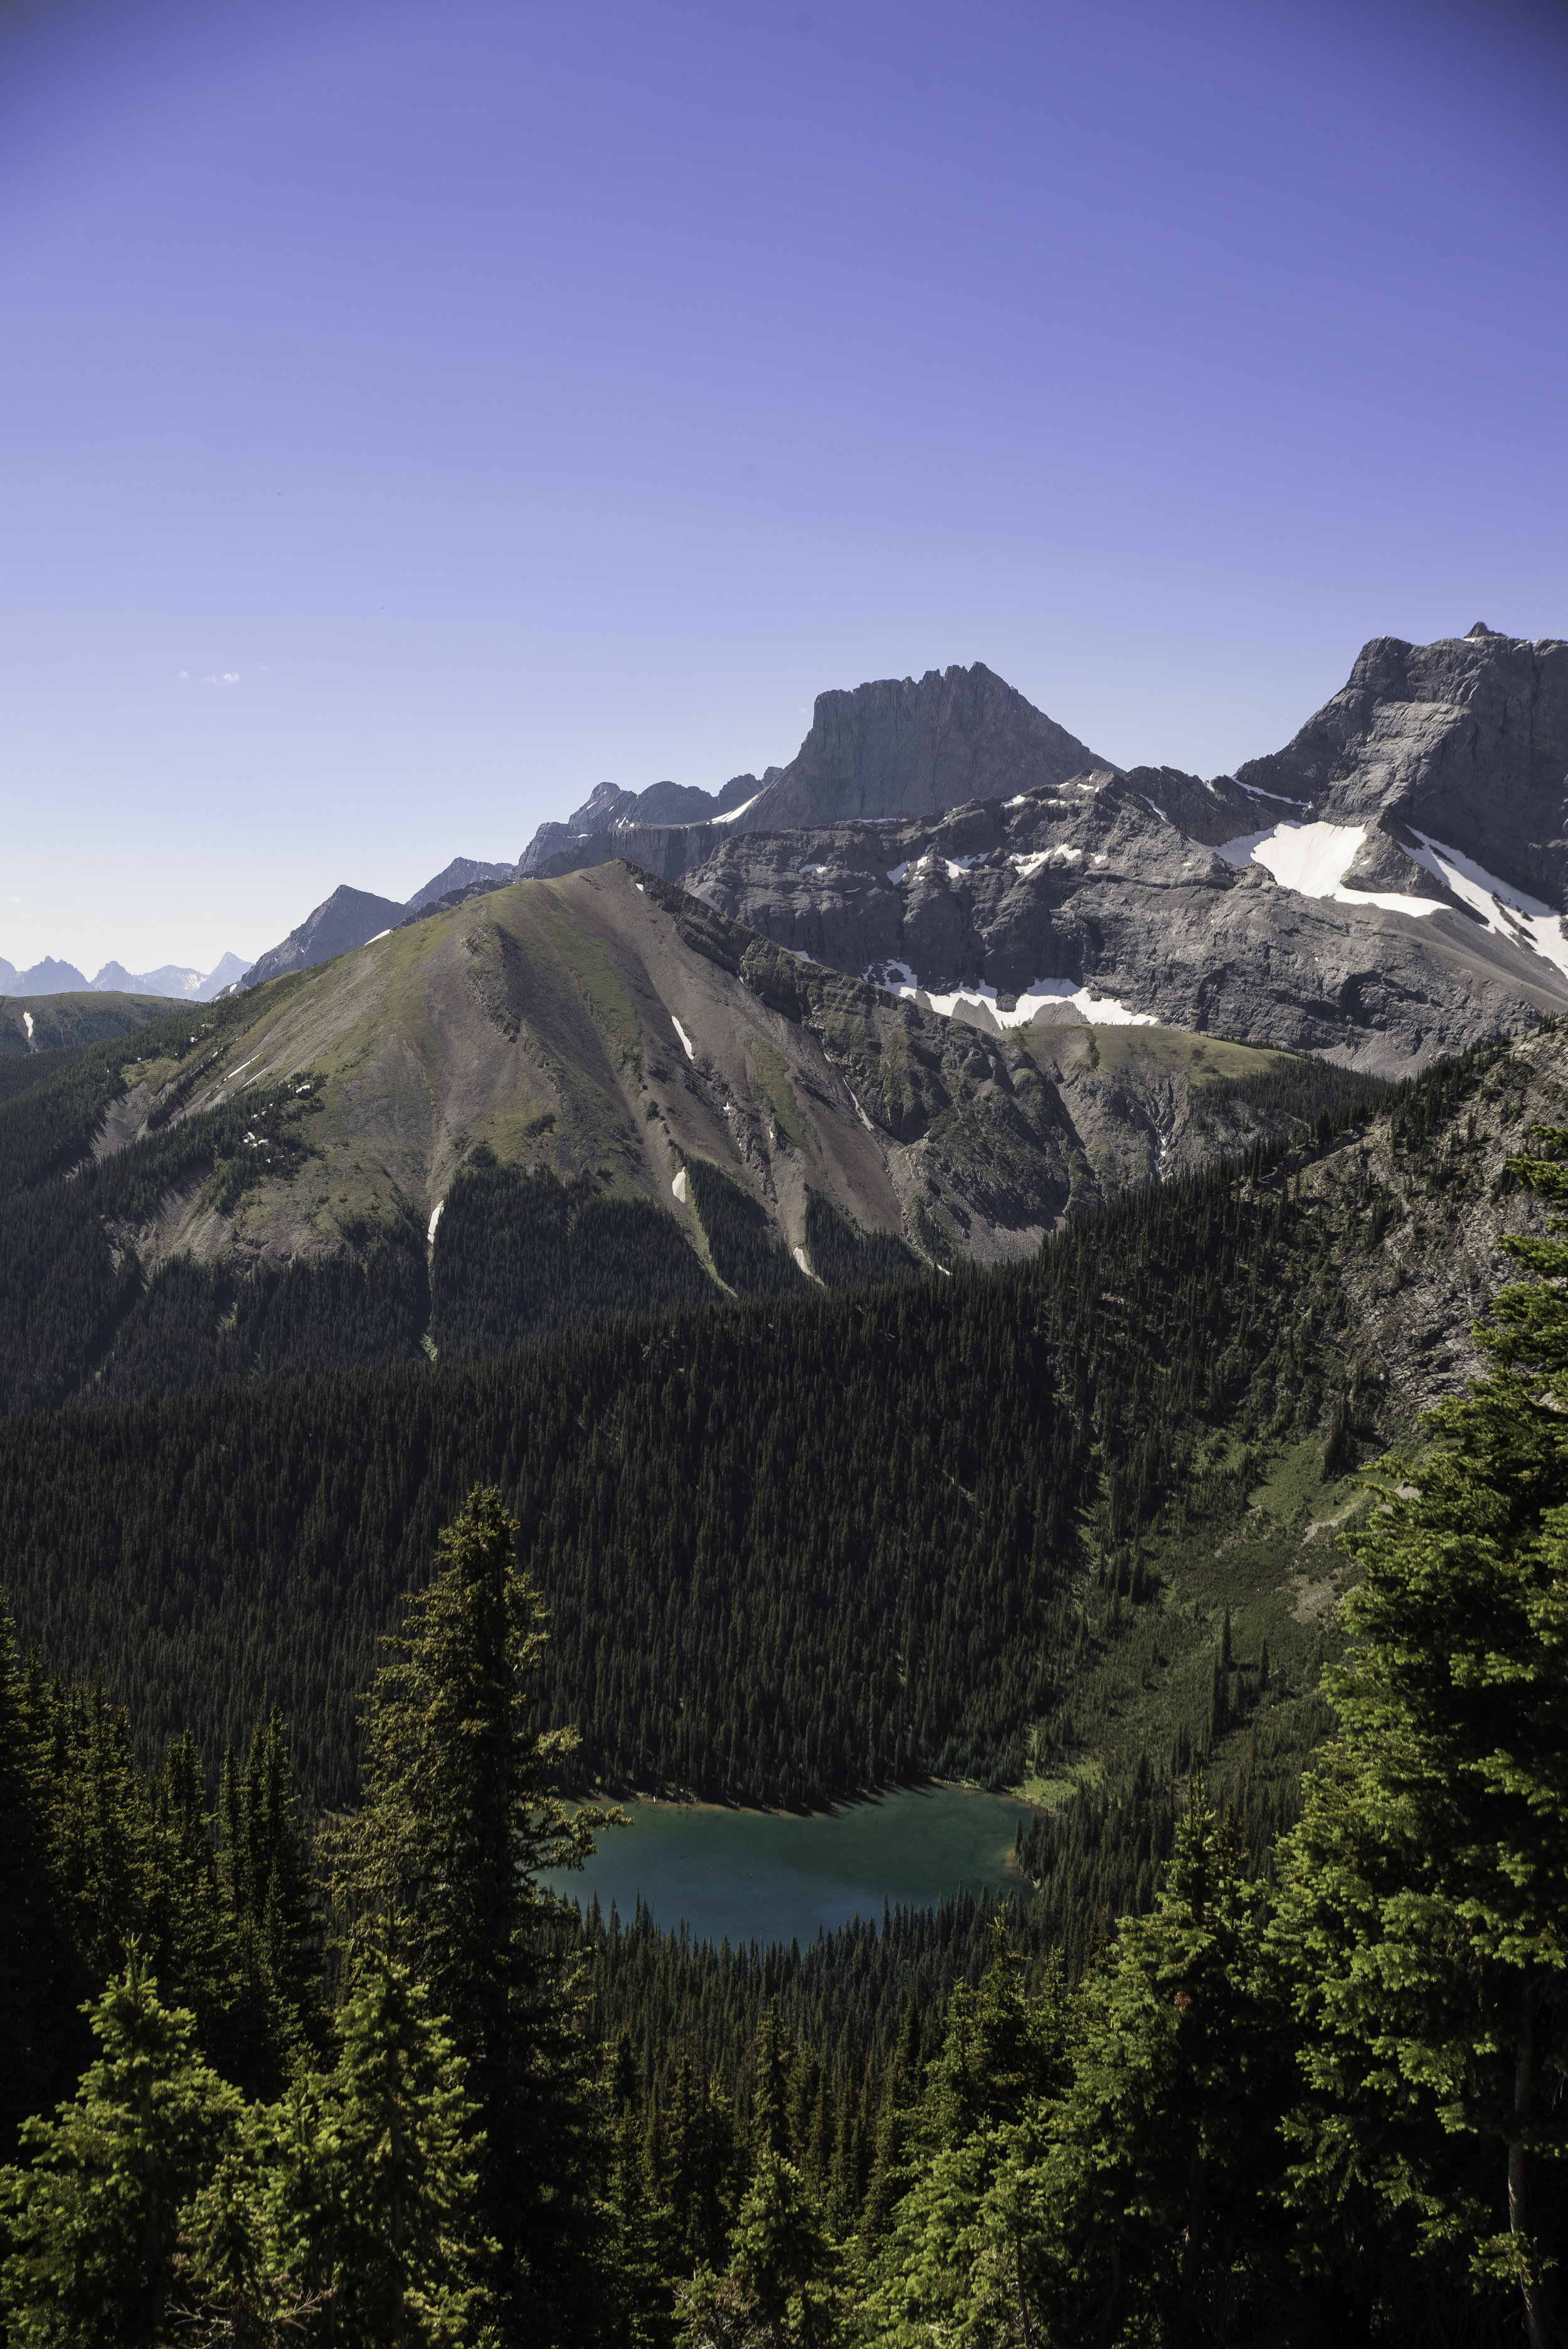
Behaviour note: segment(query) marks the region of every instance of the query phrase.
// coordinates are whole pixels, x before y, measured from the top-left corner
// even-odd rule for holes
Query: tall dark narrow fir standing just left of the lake
[[[603,2133],[580,1961],[540,1877],[580,1865],[613,1813],[549,1792],[577,1734],[530,1722],[547,1616],[500,1492],[472,1492],[437,1555],[366,1696],[364,1804],[331,1846],[333,1898],[350,1931],[394,1933],[465,2060],[514,2335],[587,2337]]]

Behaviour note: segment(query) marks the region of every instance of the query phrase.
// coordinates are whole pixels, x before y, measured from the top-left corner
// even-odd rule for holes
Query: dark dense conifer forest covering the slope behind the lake
[[[1214,1466],[1207,1431],[1244,1402],[1268,1428],[1322,1414],[1340,1304],[1289,1193],[1258,1151],[1000,1273],[12,1419],[19,1623],[136,1689],[153,1741],[190,1719],[218,1748],[282,1703],[336,1802],[373,1640],[488,1473],[554,1611],[545,1703],[584,1722],[584,1781],[1016,1781],[1075,1654],[1136,1640],[1150,1529],[1239,1506],[1244,1463]],[[1305,1670],[1279,1654],[1275,1694]],[[1192,1705],[1207,1743],[1207,1682]]]

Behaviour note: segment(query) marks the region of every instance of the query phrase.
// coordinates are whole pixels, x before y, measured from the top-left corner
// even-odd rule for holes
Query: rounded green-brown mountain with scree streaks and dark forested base
[[[0,1405],[1019,1257],[1373,1090],[1171,1031],[981,1034],[627,864],[526,881],[0,1109]]]

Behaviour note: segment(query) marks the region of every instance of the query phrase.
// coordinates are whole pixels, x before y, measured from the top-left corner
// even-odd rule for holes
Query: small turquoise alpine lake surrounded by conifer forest
[[[638,1898],[655,1924],[685,1924],[695,1940],[817,1938],[850,1917],[934,1907],[948,1893],[1000,1891],[1023,1804],[965,1788],[899,1788],[796,1818],[629,1802],[627,1828],[608,1828],[582,1870],[547,1877],[554,1891],[631,1924]]]

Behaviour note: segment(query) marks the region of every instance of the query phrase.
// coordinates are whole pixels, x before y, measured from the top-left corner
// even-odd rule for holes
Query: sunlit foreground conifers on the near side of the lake
[[[1537,1139],[1514,1172],[1568,1207]],[[1263,1867],[1178,1734],[1120,1818],[1021,1837],[1016,1905],[807,1952],[582,1917],[540,1875],[615,1818],[552,1792],[577,1736],[535,1727],[498,1489],[315,1839],[277,1712],[209,1809],[188,1731],[138,1769],[0,1626],[9,2340],[1561,2344],[1556,1231],[1509,1243],[1491,1377],[1385,1463]],[[1239,1670],[1225,1618],[1221,1736]]]

